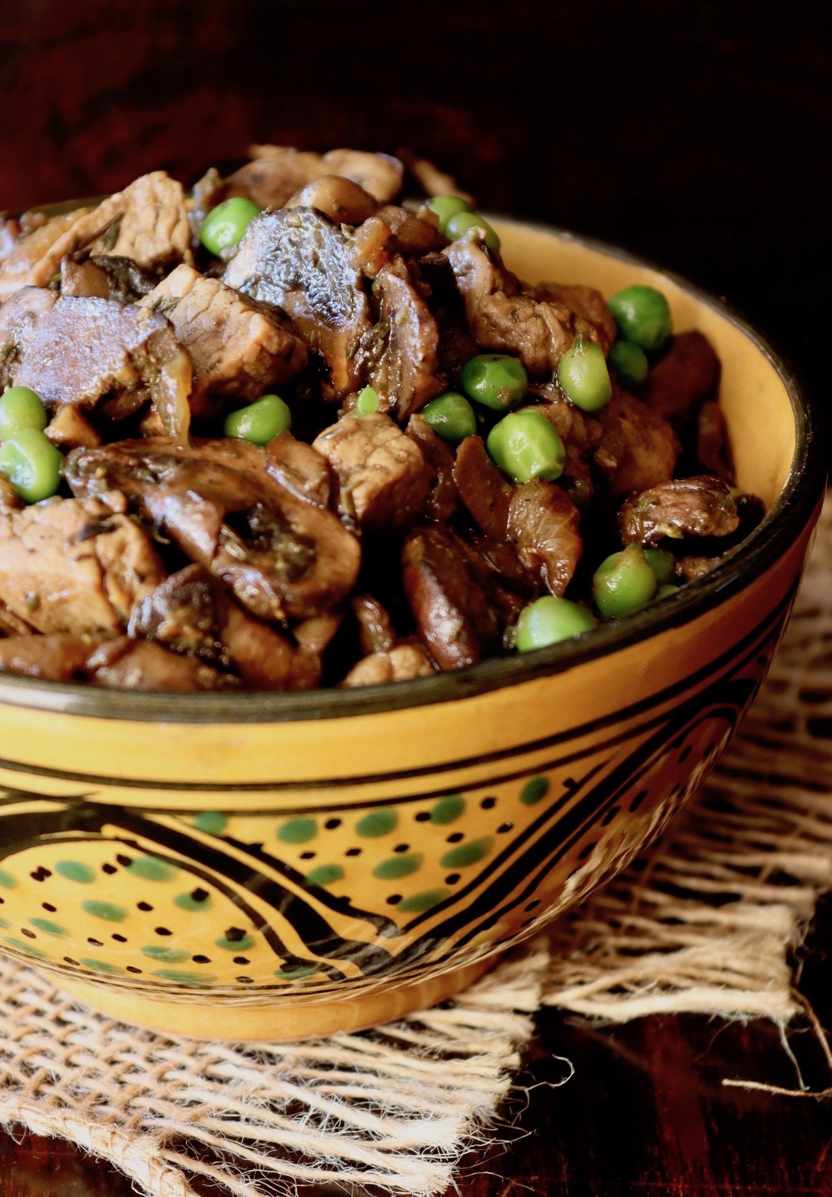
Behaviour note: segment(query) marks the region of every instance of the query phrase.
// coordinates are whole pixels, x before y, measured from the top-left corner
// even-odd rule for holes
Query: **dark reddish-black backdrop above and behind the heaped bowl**
[[[769,0],[4,6],[0,207],[251,140],[432,157],[485,209],[725,296],[822,384],[830,8]]]

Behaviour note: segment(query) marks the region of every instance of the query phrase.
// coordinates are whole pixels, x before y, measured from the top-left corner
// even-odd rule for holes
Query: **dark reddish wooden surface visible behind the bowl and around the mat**
[[[251,140],[405,145],[490,209],[577,229],[728,297],[821,390],[827,353],[832,55],[822,2],[24,0],[0,23],[0,207],[184,182]],[[802,986],[832,1023],[816,922]],[[832,1078],[812,1037],[807,1082]],[[563,1088],[566,1056],[576,1068]],[[464,1161],[464,1197],[832,1192],[822,1102],[789,1087],[778,1033],[698,1017],[594,1029],[540,1017],[508,1149]],[[72,1148],[0,1135],[4,1197],[127,1197]],[[206,1192],[208,1190],[206,1189]]]

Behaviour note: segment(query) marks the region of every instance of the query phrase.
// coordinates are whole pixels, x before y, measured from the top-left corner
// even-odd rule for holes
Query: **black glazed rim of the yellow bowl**
[[[75,201],[78,203],[78,201]],[[53,208],[54,206],[50,206]],[[69,205],[65,205],[69,207]],[[783,491],[749,536],[725,555],[706,577],[680,588],[658,606],[628,615],[620,624],[603,624],[591,636],[539,649],[527,656],[499,657],[432,678],[388,682],[354,689],[238,691],[233,693],[171,694],[97,689],[80,682],[42,681],[2,675],[0,703],[93,718],[166,723],[286,723],[350,718],[472,698],[505,686],[553,676],[587,661],[686,624],[745,590],[797,540],[818,503],[826,476],[824,445],[813,401],[798,387],[790,366],[729,304],[618,247],[533,221],[509,220],[560,241],[596,250],[636,267],[649,267],[734,324],[763,353],[782,379],[795,418],[795,456]]]

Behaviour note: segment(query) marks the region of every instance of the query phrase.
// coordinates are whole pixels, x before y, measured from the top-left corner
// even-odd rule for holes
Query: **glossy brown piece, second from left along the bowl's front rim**
[[[199,657],[186,657],[152,640],[133,640],[129,636],[102,644],[87,660],[86,669],[93,686],[110,689],[194,693],[239,685],[236,678],[213,669]]]

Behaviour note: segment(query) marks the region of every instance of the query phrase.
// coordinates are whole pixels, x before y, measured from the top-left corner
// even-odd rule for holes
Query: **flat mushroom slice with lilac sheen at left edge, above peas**
[[[164,316],[110,299],[51,296],[28,288],[0,308],[0,383],[31,387],[50,408],[90,408],[115,393],[127,397],[129,414],[150,397],[165,431],[183,439],[190,361]]]

